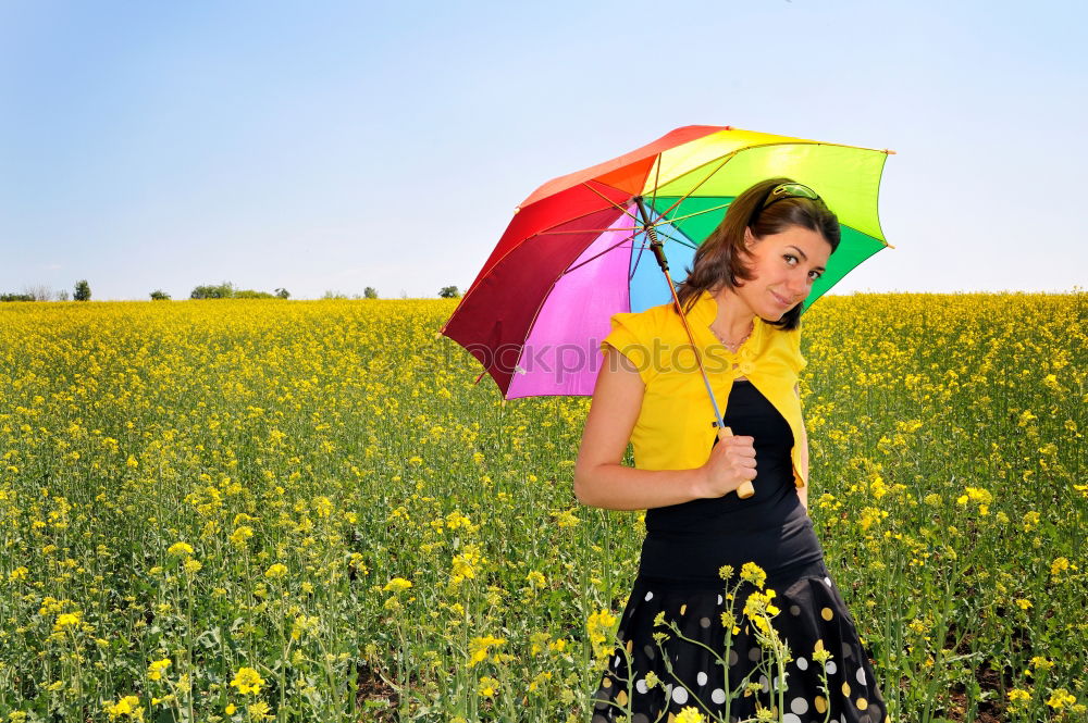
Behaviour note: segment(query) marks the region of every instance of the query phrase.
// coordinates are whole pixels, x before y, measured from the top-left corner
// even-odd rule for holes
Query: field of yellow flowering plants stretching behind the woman
[[[474,385],[453,309],[0,304],[0,721],[589,721],[642,518],[577,503],[588,400]],[[811,513],[894,721],[1086,720],[1086,312],[804,316]]]

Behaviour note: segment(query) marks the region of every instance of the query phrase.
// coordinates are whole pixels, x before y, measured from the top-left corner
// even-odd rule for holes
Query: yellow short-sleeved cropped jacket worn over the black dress
[[[710,332],[718,303],[704,291],[688,312],[688,325],[703,357],[703,365],[718,409],[726,413],[733,379],[755,385],[793,431],[793,481],[801,474],[801,399],[794,391],[806,362],[801,354],[801,329],[783,332],[755,317],[752,335],[737,353]],[[646,385],[642,410],[631,432],[635,466],[642,470],[689,470],[706,462],[714,439],[714,408],[695,363],[695,356],[671,303],[638,313],[615,314],[611,333],[602,341],[639,369]]]

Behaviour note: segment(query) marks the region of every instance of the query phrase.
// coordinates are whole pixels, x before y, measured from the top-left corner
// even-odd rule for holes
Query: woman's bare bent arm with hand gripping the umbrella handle
[[[631,361],[607,349],[585,419],[574,464],[574,495],[590,507],[646,510],[703,497],[720,497],[755,478],[752,437],[715,445],[710,459],[693,470],[634,470],[620,462],[639,419],[645,385]]]

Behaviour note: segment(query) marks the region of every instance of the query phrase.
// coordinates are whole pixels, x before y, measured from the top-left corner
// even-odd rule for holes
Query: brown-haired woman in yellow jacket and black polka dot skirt
[[[761,668],[766,651],[741,614],[755,587],[742,584],[732,601],[722,595],[731,583],[720,569],[730,565],[735,574],[745,563],[766,573],[779,609],[774,627],[792,657],[783,710],[762,715],[788,723],[888,719],[807,515],[799,322],[802,302],[838,245],[839,224],[824,201],[806,186],[772,178],[738,196],[695,253],[678,296],[733,432],[720,441],[675,307],[613,317],[574,493],[593,507],[645,509],[646,538],[620,618],[619,646],[593,699],[594,723],[628,712],[632,723],[700,720],[696,713],[743,721],[771,708],[769,694],[777,700],[782,681],[761,673],[770,670],[766,662]],[[628,441],[635,469],[620,464]],[[754,495],[742,499],[735,491],[749,481]],[[730,608],[738,624],[730,626],[727,651],[721,613]],[[663,619],[702,645],[671,634]],[[658,643],[655,633],[669,636]],[[830,655],[826,671],[817,662],[820,651]],[[758,691],[744,695],[745,683]]]

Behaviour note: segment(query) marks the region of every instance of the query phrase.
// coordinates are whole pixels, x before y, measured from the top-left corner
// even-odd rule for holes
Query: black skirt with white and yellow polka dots
[[[740,629],[726,650],[721,613],[730,606],[725,587],[725,582],[708,589],[641,576],[635,581],[620,618],[619,646],[591,701],[593,723],[613,723],[628,713],[631,723],[672,721],[690,707],[708,721],[733,723],[754,718],[757,703],[772,709],[772,720],[783,723],[888,723],[868,656],[823,562],[806,566],[792,579],[766,585],[775,590],[774,604],[779,608],[772,625],[793,658],[786,665],[784,681],[742,614],[744,598],[755,589],[747,583],[731,606]],[[655,625],[662,613],[694,643]],[[669,637],[657,640],[655,633]],[[813,659],[819,649],[830,653],[826,689],[825,668]],[[745,688],[755,689],[745,695]]]

